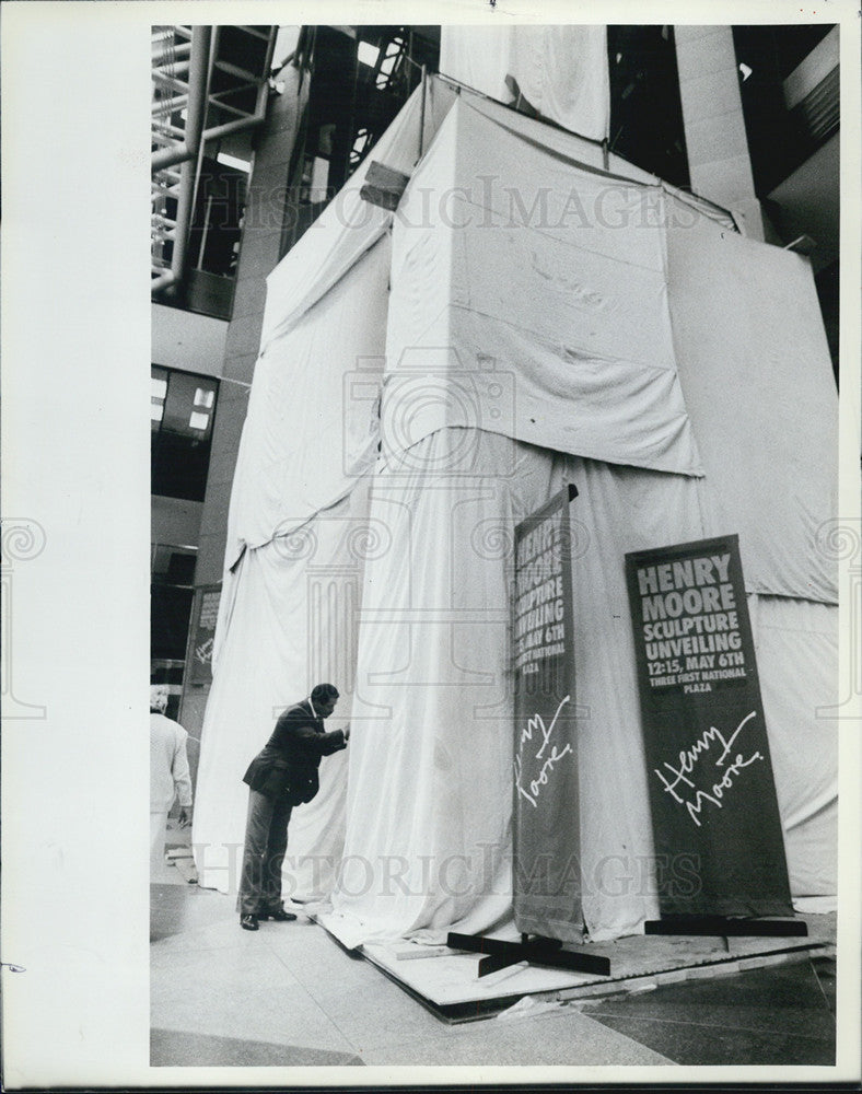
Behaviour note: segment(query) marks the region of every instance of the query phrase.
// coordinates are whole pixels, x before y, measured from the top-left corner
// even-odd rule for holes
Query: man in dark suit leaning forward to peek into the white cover
[[[337,702],[338,689],[318,684],[307,699],[288,707],[243,776],[248,785],[248,817],[236,910],[245,931],[258,930],[260,919],[287,922],[296,918],[281,904],[288,823],[293,806],[310,802],[317,793],[321,759],[347,747],[349,726],[331,733],[324,730],[324,719]]]

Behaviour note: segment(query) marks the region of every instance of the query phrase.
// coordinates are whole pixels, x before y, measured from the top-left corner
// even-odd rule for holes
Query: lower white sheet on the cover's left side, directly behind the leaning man
[[[331,729],[350,720],[362,566],[373,554],[369,480],[290,535],[247,549],[230,575],[232,607],[203,723],[194,818],[200,884],[235,893],[248,789],[241,781],[278,714],[314,684],[345,693]],[[376,535],[381,533],[377,532]],[[287,896],[329,892],[343,840],[347,753],[321,765],[321,793],[290,825]]]

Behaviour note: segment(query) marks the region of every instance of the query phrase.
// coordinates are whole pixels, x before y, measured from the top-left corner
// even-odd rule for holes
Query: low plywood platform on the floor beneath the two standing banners
[[[359,951],[441,1019],[465,1022],[499,1012],[526,996],[576,1002],[596,996],[643,991],[660,984],[718,977],[768,964],[835,952],[836,917],[800,916],[807,938],[667,938],[632,935],[587,948],[608,957],[610,976],[591,976],[526,964],[477,976],[478,954],[412,942],[365,944]],[[319,922],[339,938],[326,915]],[[516,935],[512,935],[516,938]],[[339,939],[342,943],[345,939]]]

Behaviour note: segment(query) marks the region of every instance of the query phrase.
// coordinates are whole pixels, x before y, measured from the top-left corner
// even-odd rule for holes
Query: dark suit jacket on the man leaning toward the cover
[[[301,805],[319,790],[317,769],[322,758],[346,747],[343,730],[327,733],[323,719],[314,715],[311,701],[303,699],[279,717],[243,782],[269,798],[287,794],[291,805]]]

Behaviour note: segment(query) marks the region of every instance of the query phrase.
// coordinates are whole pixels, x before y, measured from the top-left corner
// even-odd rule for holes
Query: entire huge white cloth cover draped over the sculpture
[[[396,126],[412,109],[408,104]],[[440,939],[453,923],[480,931],[506,921],[509,544],[514,524],[571,480],[579,489],[572,578],[591,935],[637,931],[657,911],[624,555],[732,532],[756,619],[792,893],[797,901],[828,900],[835,733],[817,710],[835,701],[836,597],[817,529],[835,511],[836,400],[811,274],[796,256],[729,240],[709,207],[649,178],[621,188],[618,177],[606,181],[618,202],[608,208],[628,219],[604,237],[587,223],[582,245],[564,228],[539,230],[535,252],[519,249],[532,228],[503,243],[513,235],[503,218],[509,207],[498,200],[509,201],[506,186],[527,209],[541,179],[550,206],[555,194],[573,193],[590,208],[602,183],[599,173],[583,171],[583,142],[572,138],[567,155],[568,138],[551,130],[548,161],[543,127],[503,115],[465,100],[442,128],[439,118],[439,143],[426,146],[405,208],[394,221],[386,214],[371,242],[357,243],[335,223],[330,261],[325,252],[314,255],[313,292],[295,251],[270,279],[269,335],[255,380],[260,405],[246,423],[232,505],[240,560],[229,555],[234,570],[203,730],[195,842],[203,847],[199,859],[215,856],[217,863],[209,871],[202,863],[203,883],[230,887],[230,852],[219,848],[242,841],[238,780],[271,730],[275,707],[329,676],[346,693],[333,725],[348,717],[353,725],[349,772],[328,760],[319,799],[307,813],[296,811],[289,856],[304,859],[288,874],[288,889],[330,893],[327,923],[349,944],[405,933]],[[398,154],[407,158],[403,146]],[[465,163],[473,178],[482,163],[499,178],[499,194],[479,209],[491,218],[487,229],[454,226],[451,210],[470,203],[464,195],[461,206],[441,200],[440,189],[463,182]],[[412,202],[423,183],[428,214],[417,218]],[[342,269],[348,245],[354,253]],[[516,260],[503,261],[506,251]],[[533,263],[534,253],[543,260]],[[616,324],[599,312],[591,325],[584,300],[613,290],[604,264],[621,267],[627,253],[637,259],[633,275],[619,275],[633,278],[625,281],[630,311],[611,312],[621,316]],[[484,254],[493,261],[481,261]],[[540,292],[532,295],[534,276],[548,283],[547,304]],[[313,303],[298,306],[300,298]],[[641,346],[626,321],[642,313]],[[291,415],[289,434],[273,428],[283,400],[302,389],[302,369],[319,373],[329,399],[357,371],[350,330],[361,354],[377,362],[366,394],[381,393],[380,416],[372,399],[356,417],[331,415],[323,432],[313,411]],[[560,353],[556,330],[574,352]],[[306,349],[289,352],[291,338]],[[620,370],[642,382],[620,385]],[[510,404],[502,385],[496,403],[489,387],[486,398],[476,386],[502,374]],[[666,385],[661,394],[656,374]],[[520,417],[520,394],[523,406],[555,419],[554,443],[526,431],[535,414]],[[576,443],[566,451],[569,423],[575,440],[584,439],[581,451]],[[290,441],[268,464],[267,435]],[[346,444],[365,469],[350,481],[327,451]],[[294,452],[299,463],[288,458]],[[339,514],[359,532],[359,559],[330,520]],[[261,542],[273,527],[276,538]],[[313,558],[303,554],[307,532],[324,545]],[[352,592],[342,593],[347,587]],[[349,612],[345,597],[352,598]]]

